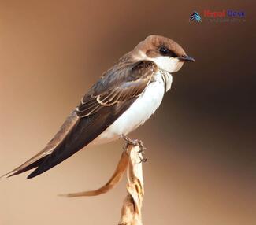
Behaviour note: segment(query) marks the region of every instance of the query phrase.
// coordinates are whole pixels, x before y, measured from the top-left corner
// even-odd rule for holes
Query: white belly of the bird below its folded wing
[[[143,91],[143,94],[126,110],[106,131],[103,131],[92,144],[110,142],[120,138],[121,135],[128,135],[139,125],[143,124],[158,109],[165,94],[165,84],[161,74],[155,77],[156,81],[150,83]]]

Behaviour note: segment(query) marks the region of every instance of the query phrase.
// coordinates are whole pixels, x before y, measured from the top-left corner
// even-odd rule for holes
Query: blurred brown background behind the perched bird
[[[32,157],[113,62],[147,35],[195,57],[174,74],[158,112],[132,138],[147,146],[145,224],[255,224],[255,3],[1,1],[0,172]],[[190,23],[196,10],[236,9],[246,22]],[[101,186],[124,143],[91,147],[35,179],[0,180],[0,224],[117,224],[125,181]]]

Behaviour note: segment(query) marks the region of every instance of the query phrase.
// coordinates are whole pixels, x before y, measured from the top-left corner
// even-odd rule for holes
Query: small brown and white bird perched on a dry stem
[[[184,62],[195,60],[177,42],[147,36],[102,73],[43,150],[3,176],[34,169],[32,179],[85,146],[132,140],[127,135],[158,109]]]

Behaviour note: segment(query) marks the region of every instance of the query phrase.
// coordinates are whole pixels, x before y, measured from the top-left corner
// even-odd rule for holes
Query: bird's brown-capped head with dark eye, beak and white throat
[[[154,61],[159,68],[170,73],[179,71],[185,61],[195,61],[178,43],[159,35],[148,36],[135,47],[135,53],[141,60]]]

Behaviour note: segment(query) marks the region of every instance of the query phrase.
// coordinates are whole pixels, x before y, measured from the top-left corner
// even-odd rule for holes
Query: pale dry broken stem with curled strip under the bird
[[[65,197],[81,197],[81,196],[95,196],[104,194],[117,186],[121,181],[124,172],[127,168],[127,190],[128,194],[124,199],[121,209],[121,219],[118,225],[142,225],[141,208],[144,195],[143,183],[143,164],[142,153],[140,147],[132,144],[128,145],[121,155],[121,159],[117,164],[117,168],[109,181],[97,190],[84,191],[72,194],[61,194]]]

